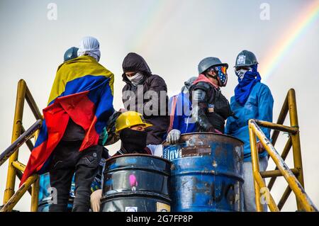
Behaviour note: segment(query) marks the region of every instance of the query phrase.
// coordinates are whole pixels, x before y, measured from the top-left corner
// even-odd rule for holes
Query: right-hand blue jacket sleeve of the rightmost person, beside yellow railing
[[[268,86],[264,85],[258,96],[258,120],[272,123],[272,111],[274,108],[274,98]],[[270,139],[270,129],[262,128],[262,132]]]

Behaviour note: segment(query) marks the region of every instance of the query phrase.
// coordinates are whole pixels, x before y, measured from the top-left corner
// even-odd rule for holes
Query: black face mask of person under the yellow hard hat
[[[145,153],[146,138],[147,132],[126,128],[120,132],[121,149],[125,154]]]

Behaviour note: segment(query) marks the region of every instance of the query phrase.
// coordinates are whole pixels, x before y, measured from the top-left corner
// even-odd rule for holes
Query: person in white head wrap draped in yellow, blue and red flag
[[[83,38],[78,57],[57,69],[43,126],[20,186],[32,174],[50,171],[50,211],[66,211],[75,172],[72,211],[89,211],[90,186],[102,155],[101,134],[113,113],[114,75],[99,64],[96,38]]]

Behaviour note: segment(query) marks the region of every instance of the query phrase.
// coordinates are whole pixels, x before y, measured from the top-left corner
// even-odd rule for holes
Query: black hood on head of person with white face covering
[[[123,81],[129,82],[128,78],[125,76],[125,72],[142,72],[146,77],[152,75],[150,67],[148,67],[146,61],[143,57],[136,54],[135,52],[130,52],[123,60]]]

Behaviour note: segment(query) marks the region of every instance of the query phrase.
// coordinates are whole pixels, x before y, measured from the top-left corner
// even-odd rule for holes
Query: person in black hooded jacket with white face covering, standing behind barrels
[[[167,85],[140,55],[130,52],[123,60],[122,100],[126,111],[137,111],[147,123],[147,145],[160,145],[169,127]]]

